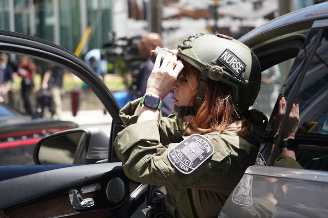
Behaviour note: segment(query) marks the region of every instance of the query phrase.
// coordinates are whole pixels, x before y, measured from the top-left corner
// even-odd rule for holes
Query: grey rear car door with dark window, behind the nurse
[[[261,152],[268,166],[255,165],[246,170],[219,217],[326,216],[327,28],[327,19],[314,21],[286,78],[284,97],[287,105],[280,125],[282,131],[274,143],[265,137],[262,142]],[[278,102],[279,99],[276,104]],[[278,158],[283,158],[277,145],[281,143],[295,102],[300,105],[300,122],[295,136],[298,146],[293,149],[295,157],[288,156],[288,163],[296,166],[297,161],[299,166],[274,167]],[[271,120],[277,111],[272,114]],[[268,134],[267,138],[270,137]]]

